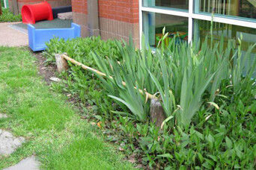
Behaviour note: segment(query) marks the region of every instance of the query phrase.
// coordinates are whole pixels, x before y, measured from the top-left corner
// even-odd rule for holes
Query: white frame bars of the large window
[[[206,21],[211,21],[213,19],[213,22],[219,22],[229,25],[237,25],[237,26],[243,26],[248,28],[256,28],[256,22],[249,22],[243,19],[239,18],[232,18],[232,17],[222,17],[222,16],[210,16],[209,14],[203,14],[203,13],[195,13],[194,12],[194,0],[189,0],[189,11],[180,11],[177,9],[161,9],[159,7],[143,7],[142,6],[142,0],[139,0],[139,36],[140,36],[140,48],[141,48],[141,36],[143,31],[143,25],[142,25],[142,13],[143,12],[152,12],[152,13],[161,13],[161,14],[167,14],[167,15],[173,15],[173,16],[183,16],[186,17],[189,20],[189,36],[188,41],[189,43],[192,42],[192,34],[193,34],[193,19],[201,19]]]

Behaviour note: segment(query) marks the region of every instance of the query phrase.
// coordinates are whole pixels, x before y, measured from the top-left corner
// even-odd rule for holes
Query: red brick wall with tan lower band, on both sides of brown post
[[[73,22],[81,25],[82,37],[90,36],[87,0],[72,0]],[[138,0],[99,0],[100,36],[103,40],[129,40],[139,45]]]

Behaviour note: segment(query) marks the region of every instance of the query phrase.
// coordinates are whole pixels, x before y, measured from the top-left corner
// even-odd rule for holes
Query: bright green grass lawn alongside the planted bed
[[[0,46],[0,129],[26,142],[0,169],[36,155],[42,169],[132,169],[112,145],[103,142],[97,126],[79,118],[67,98],[52,92],[37,75],[36,58],[26,48]]]

